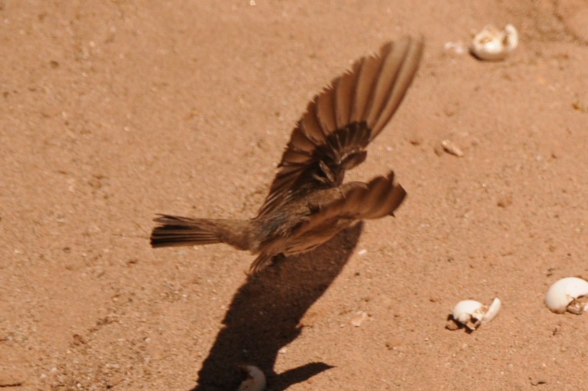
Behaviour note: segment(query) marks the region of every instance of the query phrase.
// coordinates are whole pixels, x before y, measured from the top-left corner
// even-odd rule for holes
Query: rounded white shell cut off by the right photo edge
[[[555,313],[588,311],[588,282],[577,277],[562,278],[547,290],[545,305]]]

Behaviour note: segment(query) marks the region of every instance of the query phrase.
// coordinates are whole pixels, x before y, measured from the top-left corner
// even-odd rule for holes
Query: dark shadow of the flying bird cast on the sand
[[[275,373],[283,346],[302,332],[300,319],[339,275],[358,243],[363,224],[339,232],[324,245],[290,257],[250,276],[235,293],[223,325],[191,391],[236,390],[238,365],[255,365],[266,375],[268,390],[285,390],[332,366],[312,362]]]

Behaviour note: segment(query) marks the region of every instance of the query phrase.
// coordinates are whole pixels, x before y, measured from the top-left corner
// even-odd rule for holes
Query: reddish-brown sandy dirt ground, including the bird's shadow
[[[0,1],[2,389],[232,390],[243,363],[269,390],[588,389],[588,315],[543,305],[588,277],[586,1],[162,3]],[[444,48],[489,23],[506,61]],[[255,215],[308,99],[406,34],[422,66],[348,175],[394,169],[396,218],[255,280],[149,247],[156,212]]]

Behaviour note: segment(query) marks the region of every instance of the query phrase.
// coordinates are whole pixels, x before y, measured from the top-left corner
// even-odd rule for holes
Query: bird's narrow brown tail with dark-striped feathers
[[[151,233],[152,247],[226,243],[240,250],[249,249],[249,220],[159,215],[153,221],[160,225],[153,228]]]

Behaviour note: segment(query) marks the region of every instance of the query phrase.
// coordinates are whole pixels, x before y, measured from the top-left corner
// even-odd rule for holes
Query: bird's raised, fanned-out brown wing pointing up
[[[423,39],[388,42],[360,58],[309,102],[286,146],[258,216],[293,196],[340,186],[402,102],[423,52]]]

